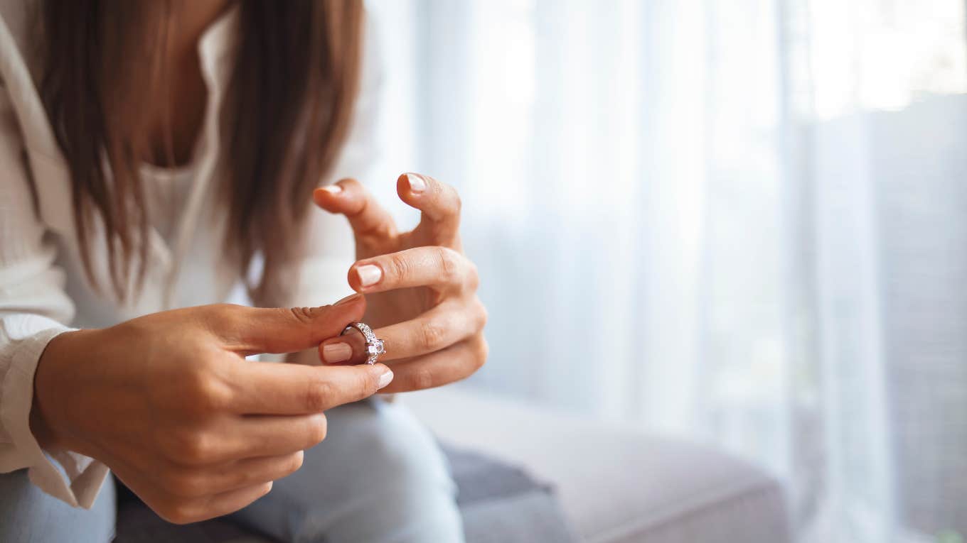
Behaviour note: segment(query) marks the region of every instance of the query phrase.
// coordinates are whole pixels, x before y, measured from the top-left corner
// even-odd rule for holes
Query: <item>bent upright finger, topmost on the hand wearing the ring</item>
[[[460,196],[453,186],[422,174],[405,173],[396,180],[396,193],[422,212],[414,232],[425,232],[434,244],[459,247]]]

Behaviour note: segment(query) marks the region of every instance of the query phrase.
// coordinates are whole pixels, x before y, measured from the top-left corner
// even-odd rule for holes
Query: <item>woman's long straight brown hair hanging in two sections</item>
[[[333,166],[356,96],[361,0],[238,0],[236,60],[220,111],[226,246],[243,277],[255,254],[272,273],[300,242],[311,188]],[[139,165],[150,152],[146,111],[168,103],[163,72],[172,0],[45,0],[41,94],[73,182],[84,270],[100,219],[111,288],[142,284],[150,209]],[[199,136],[200,137],[200,136]]]

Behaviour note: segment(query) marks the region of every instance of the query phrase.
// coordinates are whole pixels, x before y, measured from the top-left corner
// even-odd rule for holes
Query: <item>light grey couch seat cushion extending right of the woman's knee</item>
[[[788,541],[776,480],[717,450],[448,387],[403,395],[446,443],[551,481],[591,542]]]

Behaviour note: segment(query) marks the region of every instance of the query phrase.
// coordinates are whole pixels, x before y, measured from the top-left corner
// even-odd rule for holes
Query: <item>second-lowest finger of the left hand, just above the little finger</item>
[[[226,462],[218,468],[198,470],[177,467],[165,473],[163,484],[171,494],[198,498],[275,481],[302,467],[303,450]]]

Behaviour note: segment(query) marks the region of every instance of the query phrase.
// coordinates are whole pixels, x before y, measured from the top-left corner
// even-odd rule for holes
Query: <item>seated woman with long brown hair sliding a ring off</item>
[[[425,429],[358,402],[484,362],[459,200],[400,176],[422,220],[399,233],[352,179],[311,192],[372,157],[361,2],[7,0],[0,17],[0,540],[108,539],[108,470],[176,523],[461,540]],[[348,290],[352,236],[357,294],[322,305]],[[216,304],[239,282],[263,308]],[[387,365],[352,365],[355,321]],[[259,353],[302,364],[244,360]]]

